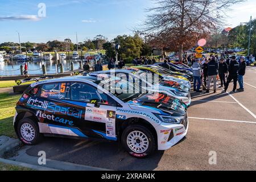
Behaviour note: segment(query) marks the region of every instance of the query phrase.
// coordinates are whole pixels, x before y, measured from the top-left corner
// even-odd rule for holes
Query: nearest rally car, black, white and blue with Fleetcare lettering
[[[28,145],[46,135],[119,141],[137,158],[168,150],[187,135],[187,106],[167,94],[139,90],[120,78],[36,82],[17,103],[14,128]]]

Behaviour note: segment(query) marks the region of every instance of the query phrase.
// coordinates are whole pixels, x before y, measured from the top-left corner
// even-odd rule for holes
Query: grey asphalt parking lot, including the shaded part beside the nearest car
[[[256,68],[248,67],[242,93],[192,93],[187,138],[150,158],[132,158],[115,143],[61,138],[46,138],[26,154],[46,151],[47,159],[113,170],[255,170],[255,77]],[[209,164],[210,151],[217,154],[216,165]]]

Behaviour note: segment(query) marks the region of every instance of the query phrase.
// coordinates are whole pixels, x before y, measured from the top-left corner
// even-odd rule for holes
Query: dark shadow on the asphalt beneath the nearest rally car
[[[149,158],[136,159],[127,154],[118,143],[47,137],[42,143],[29,148],[26,153],[38,156],[39,151],[45,151],[47,159],[129,171],[154,170],[164,154],[164,151],[156,151]]]

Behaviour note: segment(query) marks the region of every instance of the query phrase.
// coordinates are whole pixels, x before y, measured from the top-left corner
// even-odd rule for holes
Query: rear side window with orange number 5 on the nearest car
[[[69,85],[66,82],[44,84],[40,97],[64,100],[68,96]]]

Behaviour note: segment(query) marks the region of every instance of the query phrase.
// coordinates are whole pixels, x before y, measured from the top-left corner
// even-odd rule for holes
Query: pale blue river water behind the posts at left
[[[79,69],[79,60],[71,60],[73,61],[74,69]],[[70,61],[70,62],[71,62]],[[63,64],[64,71],[70,70],[70,63],[69,60],[61,60]],[[39,75],[43,74],[42,71],[42,64],[46,65],[47,74],[55,74],[56,73],[56,62],[51,61],[29,61],[28,62],[28,74],[29,75]],[[20,75],[20,65],[24,63],[14,61],[13,64],[11,61],[8,62],[0,62],[0,76],[13,76],[13,75]],[[60,67],[58,67],[58,72],[60,72]]]

